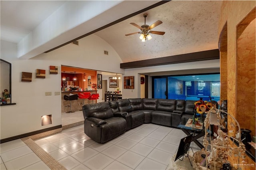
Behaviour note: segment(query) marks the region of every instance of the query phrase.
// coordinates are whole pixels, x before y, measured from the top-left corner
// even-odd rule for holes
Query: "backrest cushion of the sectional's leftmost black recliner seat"
[[[84,117],[96,117],[103,120],[114,117],[108,102],[84,105],[83,113]]]

